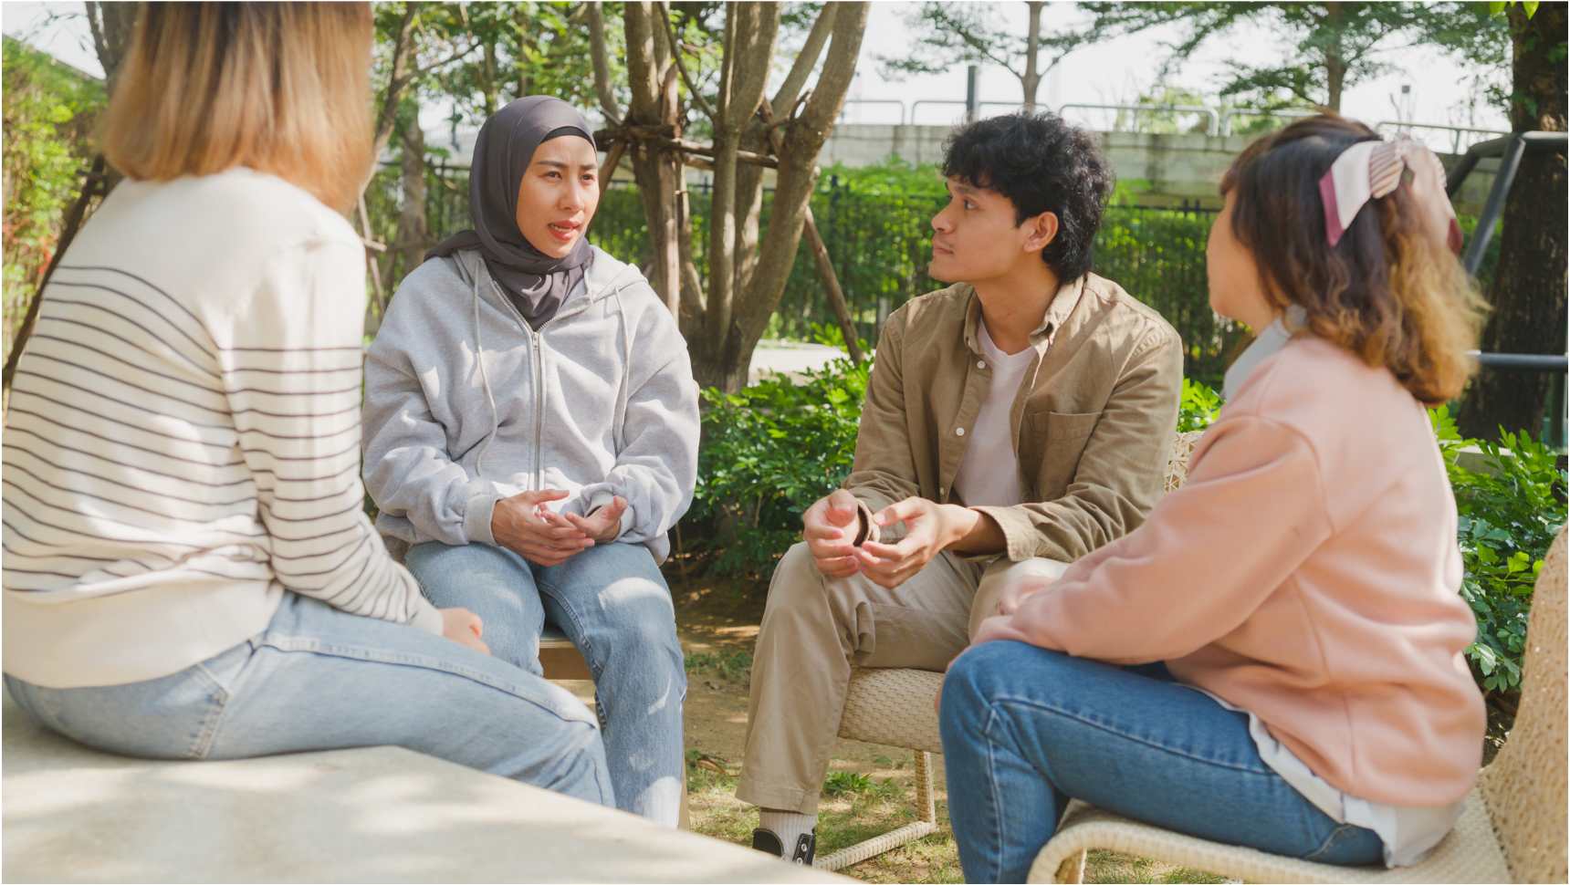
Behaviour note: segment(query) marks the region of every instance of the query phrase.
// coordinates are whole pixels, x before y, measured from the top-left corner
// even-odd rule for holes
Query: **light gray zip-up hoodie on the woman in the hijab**
[[[636,267],[597,248],[534,331],[466,249],[399,286],[366,359],[364,439],[389,538],[495,544],[496,501],[559,488],[571,493],[551,504],[562,512],[625,497],[617,540],[664,560],[697,482],[697,384]]]

